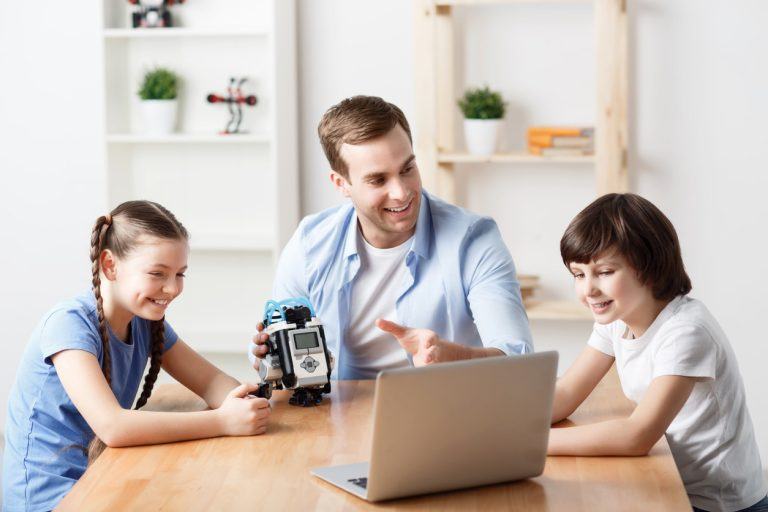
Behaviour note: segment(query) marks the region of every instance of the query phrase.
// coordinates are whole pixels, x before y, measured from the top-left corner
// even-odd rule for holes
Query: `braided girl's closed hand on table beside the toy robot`
[[[248,393],[259,389],[258,384],[245,383],[229,392],[216,413],[226,436],[253,436],[267,431],[269,401]]]

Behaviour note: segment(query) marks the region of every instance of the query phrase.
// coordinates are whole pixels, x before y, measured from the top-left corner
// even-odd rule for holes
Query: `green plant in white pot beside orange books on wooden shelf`
[[[506,104],[501,94],[488,86],[470,88],[458,101],[464,114],[464,141],[473,155],[491,155],[496,151],[501,120]]]

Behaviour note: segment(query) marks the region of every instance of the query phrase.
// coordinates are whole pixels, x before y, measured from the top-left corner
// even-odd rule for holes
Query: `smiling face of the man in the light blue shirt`
[[[331,172],[331,181],[352,200],[365,239],[378,248],[396,247],[416,230],[421,177],[408,134],[400,125],[361,144],[344,144],[341,157],[349,178]]]

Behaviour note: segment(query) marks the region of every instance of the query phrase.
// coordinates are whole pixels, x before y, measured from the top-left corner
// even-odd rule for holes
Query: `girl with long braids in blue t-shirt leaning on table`
[[[264,433],[269,403],[193,351],[165,322],[184,286],[187,231],[171,212],[129,201],[91,236],[93,289],[48,312],[32,334],[8,403],[3,510],[51,510],[86,467],[94,434],[108,446]],[[212,410],[131,410],[162,366]]]

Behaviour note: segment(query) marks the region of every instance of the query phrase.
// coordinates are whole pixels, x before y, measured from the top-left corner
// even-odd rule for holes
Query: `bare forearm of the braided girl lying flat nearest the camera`
[[[102,435],[110,447],[161,444],[224,435],[218,411],[157,412],[120,409]]]

